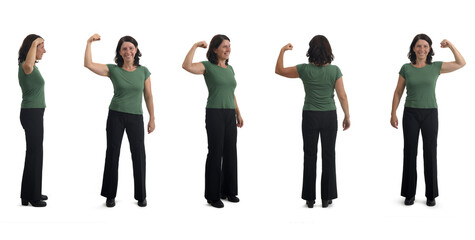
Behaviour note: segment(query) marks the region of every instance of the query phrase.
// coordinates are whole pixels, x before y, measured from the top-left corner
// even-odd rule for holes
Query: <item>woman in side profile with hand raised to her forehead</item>
[[[45,81],[36,63],[46,53],[43,38],[30,34],[18,51],[18,80],[23,101],[20,121],[26,136],[26,157],[21,182],[21,204],[45,207],[48,197],[41,195],[43,179],[43,115],[45,113]]]

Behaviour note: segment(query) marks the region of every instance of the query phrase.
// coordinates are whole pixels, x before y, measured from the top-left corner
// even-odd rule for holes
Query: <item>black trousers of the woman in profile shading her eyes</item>
[[[44,113],[44,108],[22,108],[20,112],[20,121],[26,137],[25,168],[20,197],[31,202],[41,199]]]

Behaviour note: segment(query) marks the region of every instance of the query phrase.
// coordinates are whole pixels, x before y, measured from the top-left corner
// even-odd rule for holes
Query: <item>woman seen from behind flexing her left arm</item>
[[[304,174],[302,199],[307,206],[315,204],[315,181],[318,136],[322,140],[322,207],[332,204],[337,198],[335,171],[335,142],[337,134],[336,106],[333,99],[334,91],[338,95],[345,113],[343,130],[350,127],[350,113],[343,78],[340,69],[331,65],[333,53],[327,38],[317,35],[309,43],[307,57],[309,63],[284,68],[284,53],[292,50],[287,44],[280,50],[275,66],[275,73],[302,79],[305,89],[305,103],[302,114],[302,135],[304,143]]]

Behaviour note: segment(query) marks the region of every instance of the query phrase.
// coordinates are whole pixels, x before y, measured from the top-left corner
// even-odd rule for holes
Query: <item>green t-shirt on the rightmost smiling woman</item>
[[[433,62],[423,68],[410,63],[402,65],[399,75],[406,79],[406,103],[411,108],[437,108],[435,84],[440,75],[442,62]]]

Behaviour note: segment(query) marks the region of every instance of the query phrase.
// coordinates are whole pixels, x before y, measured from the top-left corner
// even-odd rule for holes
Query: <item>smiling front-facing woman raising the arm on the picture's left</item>
[[[107,118],[107,151],[101,195],[106,197],[106,206],[115,206],[117,193],[119,154],[124,129],[130,143],[134,172],[134,197],[140,207],[147,206],[145,191],[145,145],[142,116],[142,93],[150,115],[147,131],[155,129],[152,85],[150,72],[139,64],[142,54],[137,41],[125,36],[116,48],[115,64],[99,64],[92,61],[91,44],[101,37],[94,34],[87,40],[84,66],[92,72],[109,77],[114,86],[114,96]]]

